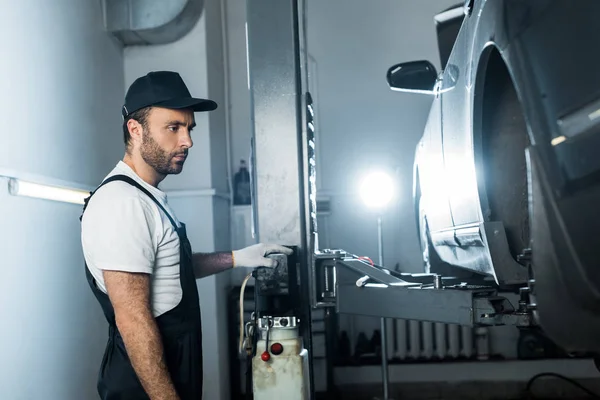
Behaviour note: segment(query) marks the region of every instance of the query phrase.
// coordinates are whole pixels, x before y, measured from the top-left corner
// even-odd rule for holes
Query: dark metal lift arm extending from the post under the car
[[[498,287],[435,274],[399,274],[343,250],[315,257],[321,296],[316,307],[345,314],[458,324],[532,326],[528,290],[515,308]]]

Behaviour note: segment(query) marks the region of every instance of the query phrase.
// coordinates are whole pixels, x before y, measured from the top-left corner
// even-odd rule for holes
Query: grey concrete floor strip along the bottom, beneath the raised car
[[[390,399],[394,400],[521,400],[590,399],[563,379],[542,377],[526,393],[529,379],[540,373],[566,376],[600,396],[600,373],[591,360],[466,362],[391,365]],[[327,400],[382,398],[377,366],[336,369],[338,396]],[[587,396],[587,397],[586,397]],[[600,398],[600,397],[596,397]]]

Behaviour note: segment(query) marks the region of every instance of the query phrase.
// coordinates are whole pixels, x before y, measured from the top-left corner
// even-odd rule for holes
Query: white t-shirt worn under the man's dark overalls
[[[123,161],[106,178],[112,175],[127,175],[140,183],[180,226],[165,192],[144,182]],[[87,266],[104,293],[103,270],[140,272],[151,274],[154,317],[181,301],[177,231],[158,205],[137,187],[114,181],[92,196],[81,220],[81,244]]]

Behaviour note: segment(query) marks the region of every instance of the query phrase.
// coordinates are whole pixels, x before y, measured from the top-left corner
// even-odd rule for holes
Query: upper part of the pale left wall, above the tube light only
[[[120,156],[122,55],[101,16],[99,1],[3,2],[0,168],[91,184]]]

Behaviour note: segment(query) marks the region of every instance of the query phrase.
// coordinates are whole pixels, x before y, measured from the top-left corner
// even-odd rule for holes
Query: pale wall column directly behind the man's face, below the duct
[[[229,201],[215,195],[227,193],[224,70],[222,60],[221,9],[219,0],[205,1],[196,26],[175,43],[127,47],[125,86],[150,71],[179,72],[193,96],[215,100],[219,108],[196,113],[194,146],[180,175],[168,177],[161,188],[171,192],[169,202],[186,223],[195,252],[230,250]],[[177,196],[180,190],[186,196]],[[227,399],[227,309],[225,289],[229,272],[197,282],[202,307],[204,347],[204,398]]]

